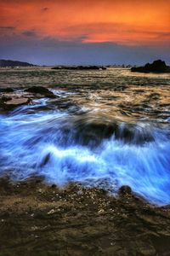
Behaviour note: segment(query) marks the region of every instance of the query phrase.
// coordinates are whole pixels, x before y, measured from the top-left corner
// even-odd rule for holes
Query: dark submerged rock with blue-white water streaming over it
[[[77,119],[73,132],[73,138],[78,144],[97,146],[103,139],[115,137],[123,143],[144,144],[154,141],[150,125],[140,126],[126,124],[118,121],[105,121]],[[69,124],[67,125],[67,129]],[[64,127],[65,128],[65,127]],[[71,129],[71,128],[70,128]]]

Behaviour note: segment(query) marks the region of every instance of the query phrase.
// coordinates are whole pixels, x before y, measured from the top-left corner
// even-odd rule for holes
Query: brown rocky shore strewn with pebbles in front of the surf
[[[170,207],[122,187],[0,179],[0,255],[169,255]]]

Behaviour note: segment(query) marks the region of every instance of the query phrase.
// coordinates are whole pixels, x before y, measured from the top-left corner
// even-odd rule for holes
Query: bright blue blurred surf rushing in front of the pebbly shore
[[[90,139],[85,145],[77,143],[81,140],[73,136],[77,129],[74,115],[59,110],[31,112],[46,103],[40,100],[33,107],[0,115],[2,173],[8,172],[17,180],[42,175],[49,183],[59,185],[68,181],[97,185],[106,180],[115,191],[127,184],[150,202],[170,202],[170,141],[166,127],[139,121],[133,125],[131,141],[117,139],[113,132],[94,147]],[[64,124],[70,129],[66,135]],[[119,123],[119,129],[122,125]],[[150,140],[145,142],[140,137],[138,143],[139,134],[146,131]],[[86,137],[83,139],[86,141]]]

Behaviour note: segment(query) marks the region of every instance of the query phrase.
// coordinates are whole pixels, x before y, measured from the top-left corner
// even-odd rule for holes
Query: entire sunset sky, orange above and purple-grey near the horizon
[[[170,62],[170,0],[0,0],[0,59]]]

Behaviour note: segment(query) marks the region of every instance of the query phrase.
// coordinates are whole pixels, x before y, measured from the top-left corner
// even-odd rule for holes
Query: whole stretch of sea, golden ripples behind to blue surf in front
[[[23,88],[35,76],[5,71],[3,84],[15,78],[17,87],[18,78]],[[170,75],[43,70],[43,79],[56,99],[0,115],[2,175],[42,175],[49,183],[78,181],[113,191],[126,184],[150,202],[170,203]]]

